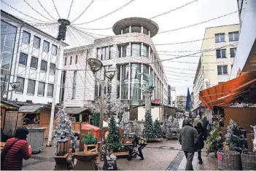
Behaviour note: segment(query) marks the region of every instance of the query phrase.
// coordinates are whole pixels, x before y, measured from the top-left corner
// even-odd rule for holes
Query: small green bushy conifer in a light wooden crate
[[[87,135],[82,135],[82,143],[85,145],[85,154],[98,154],[98,140],[93,132],[89,132]]]

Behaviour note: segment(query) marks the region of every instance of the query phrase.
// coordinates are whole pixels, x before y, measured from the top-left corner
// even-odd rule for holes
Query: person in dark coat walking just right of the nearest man
[[[199,162],[199,164],[203,164],[203,160],[202,160],[202,157],[201,157],[201,149],[203,149],[204,141],[207,138],[207,130],[203,127],[202,122],[198,122],[196,124],[195,130],[198,131],[198,135],[199,135],[199,140],[198,140],[198,144],[197,144],[198,162]]]

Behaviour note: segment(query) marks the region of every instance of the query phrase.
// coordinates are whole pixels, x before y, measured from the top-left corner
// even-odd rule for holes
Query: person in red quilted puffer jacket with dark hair
[[[22,170],[23,159],[29,159],[32,148],[26,140],[28,128],[18,127],[14,138],[9,138],[1,151],[1,170]]]

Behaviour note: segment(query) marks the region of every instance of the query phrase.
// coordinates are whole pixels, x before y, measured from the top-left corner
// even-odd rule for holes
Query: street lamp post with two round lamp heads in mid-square
[[[106,84],[112,81],[112,79],[115,76],[115,71],[105,71],[104,76],[108,78],[109,80],[100,80],[96,76],[96,72],[99,71],[102,68],[102,63],[100,60],[97,60],[96,58],[90,58],[87,60],[87,63],[89,65],[89,68],[91,71],[93,71],[94,76],[96,77],[96,80],[99,82],[101,86],[101,114],[100,114],[100,129],[103,128],[103,116],[104,116],[104,87]]]

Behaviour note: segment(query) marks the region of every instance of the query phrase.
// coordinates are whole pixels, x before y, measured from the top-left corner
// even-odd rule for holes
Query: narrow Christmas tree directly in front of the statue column
[[[155,138],[154,134],[154,126],[152,122],[152,116],[150,112],[147,112],[145,114],[145,123],[143,128],[143,138],[146,138],[146,140],[150,140],[152,138]]]

